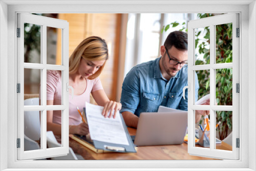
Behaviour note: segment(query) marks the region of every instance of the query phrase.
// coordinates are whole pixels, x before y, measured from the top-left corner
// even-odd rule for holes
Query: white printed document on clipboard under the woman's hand
[[[92,140],[129,145],[119,113],[116,118],[105,118],[103,107],[86,102],[86,117]],[[109,114],[108,114],[109,115]]]

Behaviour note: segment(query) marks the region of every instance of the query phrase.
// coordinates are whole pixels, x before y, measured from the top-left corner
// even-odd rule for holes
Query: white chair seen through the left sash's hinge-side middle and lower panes
[[[24,100],[24,105],[39,105],[39,98]],[[24,134],[34,141],[40,138],[40,113],[39,111],[24,112]]]

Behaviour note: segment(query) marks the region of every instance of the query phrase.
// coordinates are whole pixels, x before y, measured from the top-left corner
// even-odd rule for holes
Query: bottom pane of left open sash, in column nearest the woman
[[[62,111],[47,111],[47,119],[59,125],[55,130],[47,129],[47,148],[61,147]]]

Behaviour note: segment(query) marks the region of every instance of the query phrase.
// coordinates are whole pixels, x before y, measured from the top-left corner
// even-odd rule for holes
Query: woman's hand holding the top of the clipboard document
[[[115,110],[115,113],[113,115],[113,118],[116,118],[116,114],[119,114],[119,111],[122,108],[122,104],[115,102],[115,101],[108,101],[106,102],[104,109],[102,111],[102,115],[106,118],[109,117],[111,118],[111,116],[113,115],[113,112]],[[108,113],[110,112],[110,115],[108,116]]]

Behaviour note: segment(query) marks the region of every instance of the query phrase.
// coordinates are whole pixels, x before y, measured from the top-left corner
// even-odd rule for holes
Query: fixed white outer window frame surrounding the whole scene
[[[255,1],[97,1],[69,2],[69,1],[1,1],[0,6],[0,169],[18,170],[18,168],[98,168],[103,170],[120,170],[120,168],[159,168],[158,170],[175,170],[172,168],[183,168],[183,170],[198,170],[201,168],[207,170],[210,168],[222,168],[222,170],[255,170],[255,113],[256,113],[256,5]],[[26,4],[27,5],[23,5]],[[31,5],[35,3],[35,5]],[[48,4],[48,3],[51,3]],[[63,5],[78,4],[78,5]],[[194,3],[194,4],[193,4]],[[29,5],[30,4],[30,5]],[[40,5],[38,5],[40,4]],[[55,4],[55,5],[53,5]],[[108,8],[106,8],[108,6]],[[15,22],[17,12],[33,13],[136,13],[136,12],[154,12],[154,13],[221,13],[238,12],[241,16],[241,40],[240,40],[240,160],[223,161],[17,161],[16,160],[16,133],[15,118],[17,117],[16,106],[16,54],[15,46]],[[250,33],[250,35],[249,35]],[[8,44],[6,44],[6,42]],[[8,45],[8,46],[7,46]],[[8,58],[8,60],[6,60]],[[243,62],[242,62],[243,59]],[[7,66],[7,67],[6,67]],[[248,69],[249,68],[249,69]],[[8,72],[6,72],[8,71]],[[8,75],[6,74],[8,73]],[[7,90],[7,91],[6,91]],[[249,93],[250,90],[250,93]],[[8,101],[6,102],[6,97]],[[248,105],[249,104],[249,105]],[[249,113],[250,111],[250,113]],[[8,115],[7,115],[8,114]],[[6,127],[8,128],[6,131]],[[252,133],[248,136],[248,130]],[[13,134],[15,133],[15,134]],[[8,137],[8,138],[6,138]],[[248,143],[248,141],[250,143]],[[250,150],[249,150],[250,149]],[[7,156],[7,157],[6,157]],[[33,168],[33,169],[32,169]],[[51,169],[52,168],[52,169]],[[144,169],[143,169],[144,168]],[[166,169],[164,169],[166,168]],[[169,169],[168,169],[169,168]],[[27,169],[28,170],[28,169]],[[39,170],[39,169],[37,169]],[[86,169],[84,169],[86,170]],[[90,169],[87,169],[90,170]],[[135,170],[135,169],[134,169]],[[138,170],[138,169],[137,169]],[[153,169],[154,170],[154,169]],[[182,170],[182,169],[180,169]],[[208,169],[209,170],[209,169]],[[212,169],[211,169],[212,170]]]

